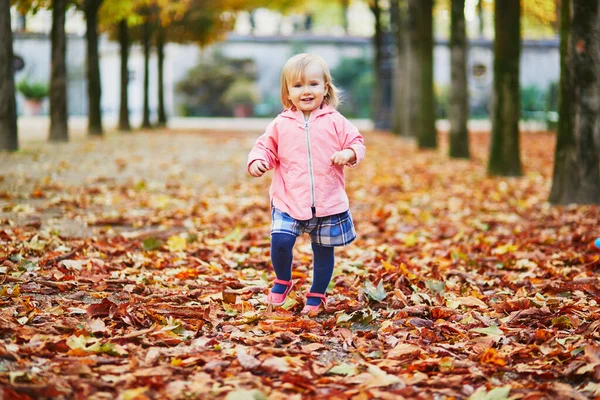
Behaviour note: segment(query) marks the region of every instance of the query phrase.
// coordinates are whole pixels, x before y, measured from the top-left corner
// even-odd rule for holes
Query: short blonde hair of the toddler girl
[[[304,78],[304,70],[312,63],[317,62],[323,69],[323,80],[325,81],[325,96],[323,103],[335,108],[340,104],[340,89],[336,88],[331,79],[331,73],[327,63],[315,54],[301,53],[290,58],[281,71],[281,104],[284,109],[293,109],[294,104],[288,98],[290,95],[287,87],[290,82],[298,78]]]

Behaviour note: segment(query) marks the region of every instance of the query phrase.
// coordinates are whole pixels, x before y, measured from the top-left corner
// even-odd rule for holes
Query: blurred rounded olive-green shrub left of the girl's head
[[[234,100],[258,101],[258,93],[250,94],[248,86],[255,78],[252,60],[226,58],[218,52],[202,58],[177,84],[176,91],[183,98],[179,112],[183,116],[231,116]]]

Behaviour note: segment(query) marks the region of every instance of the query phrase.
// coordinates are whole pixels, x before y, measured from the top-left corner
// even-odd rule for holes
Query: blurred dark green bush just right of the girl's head
[[[342,58],[331,71],[342,91],[339,111],[347,118],[368,118],[371,113],[373,61],[366,57]]]

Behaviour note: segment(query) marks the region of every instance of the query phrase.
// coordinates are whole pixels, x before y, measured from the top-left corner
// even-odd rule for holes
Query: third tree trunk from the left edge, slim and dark
[[[86,19],[85,38],[87,42],[87,78],[88,78],[88,133],[99,135],[102,129],[102,89],[100,85],[100,66],[98,55],[98,10],[103,0],[85,0]]]

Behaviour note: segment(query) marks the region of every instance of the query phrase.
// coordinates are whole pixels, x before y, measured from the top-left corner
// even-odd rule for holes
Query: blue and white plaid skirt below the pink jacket
[[[327,217],[313,216],[309,220],[297,220],[272,207],[271,217],[271,234],[287,233],[297,237],[308,233],[313,243],[324,247],[345,246],[356,239],[350,210]]]

